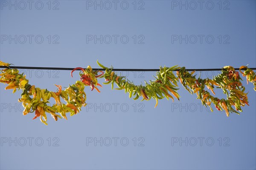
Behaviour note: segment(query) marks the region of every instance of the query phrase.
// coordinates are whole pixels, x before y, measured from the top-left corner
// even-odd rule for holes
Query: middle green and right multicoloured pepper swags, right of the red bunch
[[[175,96],[179,100],[180,96],[177,93],[178,89],[175,88],[178,86],[178,79],[180,79],[180,83],[191,94],[197,93],[198,99],[201,100],[205,107],[209,106],[211,111],[213,111],[211,107],[212,103],[218,110],[224,109],[227,116],[229,116],[230,112],[236,112],[239,114],[239,112],[242,112],[241,106],[243,107],[245,104],[249,106],[247,93],[244,93],[245,87],[242,86],[241,83],[242,79],[239,76],[239,72],[236,72],[232,66],[225,66],[222,69],[221,74],[217,75],[213,79],[201,79],[200,77],[196,78],[196,75],[193,75],[195,71],[189,73],[186,71],[185,67],[160,67],[160,71],[157,72],[157,77],[154,77],[156,80],[149,81],[149,84],[145,81],[145,86],[136,86],[133,84],[133,82],[126,80],[124,76],[118,76],[115,74],[115,72],[112,72],[113,67],[107,68],[99,63],[99,61],[97,61],[97,63],[100,67],[105,69],[105,74],[100,78],[104,77],[105,81],[108,82],[103,84],[111,83],[113,89],[113,84],[115,83],[119,87],[116,89],[125,89],[125,93],[129,92],[129,98],[131,98],[132,95],[136,96],[134,100],[137,100],[140,96],[143,97],[142,101],[153,98],[156,100],[155,107],[157,106],[158,99],[167,98],[167,100],[169,100],[169,98],[172,98],[174,101],[173,96]],[[241,69],[244,68],[246,68],[246,70],[244,73],[242,73]],[[176,69],[180,69],[177,71],[177,77],[175,77],[175,75],[172,73]],[[256,75],[253,70],[247,68],[247,66],[241,66],[240,72],[243,74],[243,76],[246,76],[247,84],[248,81],[254,84],[254,90],[256,91]],[[221,88],[224,94],[227,95],[227,99],[213,97],[205,89],[205,86],[207,86],[207,88],[210,89],[214,95],[214,86]],[[169,92],[171,92],[173,96],[169,94]],[[232,106],[235,106],[235,109],[233,109]]]

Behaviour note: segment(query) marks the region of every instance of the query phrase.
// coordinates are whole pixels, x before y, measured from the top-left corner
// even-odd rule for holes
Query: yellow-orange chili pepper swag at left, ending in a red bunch
[[[3,63],[0,61],[0,66],[9,66],[9,63]],[[3,69],[0,74],[0,82],[8,84],[5,89],[13,89],[13,93],[17,89],[23,90],[19,102],[22,102],[24,107],[23,115],[29,112],[35,112],[35,118],[40,116],[42,123],[47,125],[46,112],[50,113],[55,121],[58,118],[65,118],[67,120],[66,113],[70,112],[70,116],[77,114],[82,106],[86,106],[86,94],[84,92],[84,86],[88,85],[87,82],[91,81],[90,86],[97,84],[96,75],[97,72],[93,72],[91,67],[83,69],[84,74],[81,76],[81,81],[76,81],[75,84],[69,85],[66,89],[62,90],[60,85],[57,92],[51,92],[47,89],[40,89],[34,85],[29,84],[29,80],[26,79],[26,75],[19,74],[17,69]],[[72,75],[72,73],[71,73]],[[96,88],[96,87],[95,87]],[[50,98],[54,98],[55,104],[49,105]],[[66,101],[64,104],[61,98]],[[60,115],[58,114],[60,113]]]

